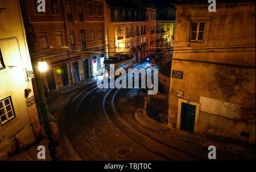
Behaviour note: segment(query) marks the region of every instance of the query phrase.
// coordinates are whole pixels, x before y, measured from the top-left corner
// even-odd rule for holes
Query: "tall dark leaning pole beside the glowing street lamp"
[[[24,21],[24,28],[26,30],[26,37],[28,42],[28,50],[31,54],[31,63],[34,71],[34,78],[36,83],[36,89],[38,91],[38,99],[41,110],[41,115],[43,117],[44,130],[46,132],[46,137],[48,139],[48,147],[52,160],[57,160],[56,151],[55,151],[55,141],[53,140],[52,130],[51,130],[51,122],[49,117],[49,109],[46,102],[46,97],[44,95],[42,74],[38,70],[38,58],[36,54],[36,45],[35,45],[35,33],[32,29],[32,24],[30,23],[30,19],[28,17],[28,8],[25,1],[20,0],[20,8],[22,10],[22,16]]]

